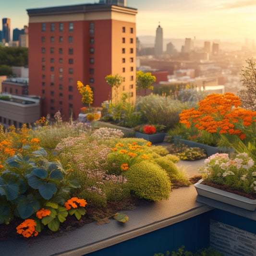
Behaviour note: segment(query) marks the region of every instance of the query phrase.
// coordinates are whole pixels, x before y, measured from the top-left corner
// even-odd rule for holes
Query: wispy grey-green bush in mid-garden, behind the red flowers
[[[142,113],[142,122],[165,125],[170,129],[179,122],[181,111],[190,106],[191,103],[151,94],[137,98],[135,110]]]

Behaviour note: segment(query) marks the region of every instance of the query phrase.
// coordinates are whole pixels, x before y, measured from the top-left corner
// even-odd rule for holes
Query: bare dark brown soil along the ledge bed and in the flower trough
[[[202,179],[201,175],[194,176],[189,179],[189,182],[191,184],[194,184],[198,182],[199,180]],[[232,193],[236,193],[238,195],[244,195],[252,199],[256,199],[256,193],[251,193],[251,194],[246,194],[241,191],[234,191],[231,189],[229,186],[221,186],[218,184],[210,184],[210,183],[204,183],[206,185],[211,185],[214,187],[217,187],[219,189],[223,189]],[[179,187],[184,186],[183,183],[176,183],[172,184],[172,189],[178,189]],[[249,195],[249,196],[248,196]],[[50,231],[47,227],[40,232],[39,236],[42,235],[62,235],[65,232],[68,232],[70,230],[74,230],[76,228],[82,227],[87,223],[91,223],[93,221],[97,221],[97,224],[102,224],[102,223],[107,223],[108,222],[108,217],[111,215],[121,211],[121,210],[134,210],[136,206],[140,206],[143,204],[148,203],[147,200],[145,199],[139,199],[137,197],[130,197],[129,199],[124,199],[120,202],[110,202],[107,204],[106,207],[104,208],[98,208],[90,205],[89,203],[86,205],[86,214],[85,216],[82,216],[81,219],[77,220],[74,216],[68,216],[66,221],[61,223],[60,229],[57,232],[52,232]],[[103,221],[101,221],[103,220]],[[0,224],[0,241],[1,240],[6,240],[6,239],[12,239],[12,238],[19,238],[24,239],[26,241],[35,241],[32,240],[31,238],[24,238],[20,236],[16,232],[16,227],[23,222],[23,219],[20,218],[15,218],[13,219],[9,225],[5,224]]]

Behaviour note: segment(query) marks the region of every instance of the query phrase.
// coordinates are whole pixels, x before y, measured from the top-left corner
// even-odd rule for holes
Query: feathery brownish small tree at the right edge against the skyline
[[[256,111],[256,63],[253,58],[247,59],[246,63],[240,80],[245,89],[238,91],[238,96],[244,109]]]

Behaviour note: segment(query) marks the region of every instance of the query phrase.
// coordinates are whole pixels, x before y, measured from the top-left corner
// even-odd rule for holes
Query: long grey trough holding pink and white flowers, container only
[[[202,195],[219,202],[223,202],[232,206],[240,207],[246,210],[254,211],[256,208],[256,200],[236,195],[227,191],[220,190],[211,186],[201,184],[203,180],[194,184],[198,195]]]

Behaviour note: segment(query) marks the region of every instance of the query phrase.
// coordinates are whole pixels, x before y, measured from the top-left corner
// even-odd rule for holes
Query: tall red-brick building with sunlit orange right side
[[[108,74],[122,75],[119,93],[135,103],[136,9],[81,4],[27,10],[29,94],[42,98],[42,115],[61,111],[64,120],[83,107],[77,81],[90,85],[93,106],[111,98]]]

